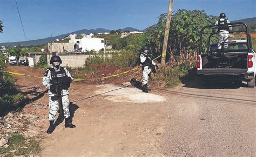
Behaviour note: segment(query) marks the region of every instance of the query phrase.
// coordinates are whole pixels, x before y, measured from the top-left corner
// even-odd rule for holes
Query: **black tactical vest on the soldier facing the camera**
[[[54,68],[48,68],[51,72],[51,80],[50,83],[51,84],[55,84],[56,80],[54,80],[55,78],[57,79],[57,82],[61,82],[61,86],[62,89],[68,89],[70,87],[70,82],[67,83],[66,79],[68,79],[68,75],[66,75],[66,71],[64,70],[63,67],[59,67],[60,70],[58,72],[55,71]]]

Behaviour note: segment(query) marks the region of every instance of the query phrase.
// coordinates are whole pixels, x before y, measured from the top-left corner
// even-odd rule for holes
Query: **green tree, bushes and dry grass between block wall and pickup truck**
[[[158,22],[147,28],[144,34],[130,34],[120,38],[118,34],[97,35],[104,38],[115,51],[107,52],[111,57],[97,54],[85,61],[85,68],[100,66],[134,67],[139,65],[140,48],[150,47],[151,58],[161,55],[167,14],[159,16]],[[173,87],[180,83],[180,78],[191,71],[196,61],[199,48],[199,32],[205,25],[215,22],[217,17],[208,16],[200,10],[178,10],[172,15],[169,43],[166,55],[166,67],[152,76],[154,84]],[[115,32],[113,32],[115,33]],[[210,33],[210,32],[208,32]],[[204,40],[207,40],[206,38]],[[161,59],[157,59],[160,63]],[[95,69],[94,69],[95,70]],[[81,74],[79,76],[82,76]]]

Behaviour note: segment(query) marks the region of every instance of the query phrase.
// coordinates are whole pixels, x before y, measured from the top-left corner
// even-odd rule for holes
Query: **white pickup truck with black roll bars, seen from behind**
[[[255,87],[256,56],[252,48],[251,35],[245,23],[224,24],[232,27],[226,49],[217,49],[219,25],[209,25],[200,33],[197,56],[197,74],[206,81],[246,81],[248,87]],[[203,34],[212,30],[209,37]],[[209,31],[208,31],[209,32]],[[224,47],[224,43],[223,46]]]

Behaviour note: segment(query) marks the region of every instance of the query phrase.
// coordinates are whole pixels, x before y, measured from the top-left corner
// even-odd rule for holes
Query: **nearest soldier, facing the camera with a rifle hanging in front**
[[[43,85],[49,89],[49,121],[50,126],[46,133],[52,133],[56,114],[59,111],[61,118],[65,117],[65,127],[76,127],[71,123],[69,111],[69,87],[73,81],[68,69],[60,67],[62,60],[59,56],[52,56],[50,63],[53,68],[48,68],[44,73]]]

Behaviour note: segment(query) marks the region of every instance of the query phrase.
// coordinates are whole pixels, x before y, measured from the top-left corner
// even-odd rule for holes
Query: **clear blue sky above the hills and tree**
[[[72,31],[134,27],[143,30],[166,13],[169,0],[17,0],[27,40]],[[256,17],[255,0],[174,0],[178,9],[205,10],[208,15],[225,12],[228,19]],[[3,33],[0,42],[25,41],[15,0],[0,0]]]

